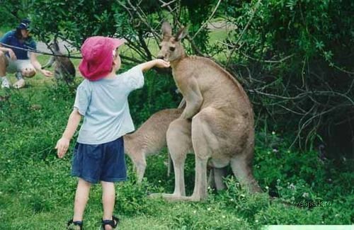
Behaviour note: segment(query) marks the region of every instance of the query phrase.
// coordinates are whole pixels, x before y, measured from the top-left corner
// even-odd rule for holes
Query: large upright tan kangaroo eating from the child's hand
[[[185,54],[180,42],[185,28],[173,36],[171,25],[163,23],[162,33],[158,57],[171,62],[173,79],[186,101],[181,117],[171,122],[166,133],[175,190],[162,196],[168,200],[205,199],[208,160],[215,173],[231,164],[241,184],[251,192],[261,191],[252,175],[253,110],[244,89],[212,60]],[[190,197],[185,197],[185,149],[195,153],[195,187]]]

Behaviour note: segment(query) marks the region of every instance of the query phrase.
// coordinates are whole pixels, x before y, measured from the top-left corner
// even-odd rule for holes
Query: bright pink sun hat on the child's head
[[[125,41],[95,36],[87,38],[81,46],[82,60],[79,70],[86,79],[97,81],[112,71],[113,51]]]

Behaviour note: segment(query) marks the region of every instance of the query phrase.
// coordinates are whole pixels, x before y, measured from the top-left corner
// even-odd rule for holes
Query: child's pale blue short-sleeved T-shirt
[[[128,105],[129,93],[144,86],[140,67],[134,67],[115,79],[81,82],[74,108],[84,116],[77,142],[103,144],[135,130]]]

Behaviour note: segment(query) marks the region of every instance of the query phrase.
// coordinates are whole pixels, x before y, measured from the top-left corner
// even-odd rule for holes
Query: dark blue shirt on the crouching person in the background
[[[6,33],[4,35],[4,37],[1,38],[0,42],[3,43],[1,44],[4,47],[8,47],[6,45],[12,45],[12,46],[16,46],[16,47],[20,47],[26,50],[36,50],[37,49],[37,45],[35,44],[35,41],[32,38],[27,38],[24,41],[18,40],[18,38],[15,37],[15,31],[11,30],[8,33]],[[15,52],[17,59],[29,59],[28,58],[28,52],[26,50],[20,50],[20,49],[16,49],[13,47],[8,47],[11,50],[13,50],[13,52]],[[6,53],[9,57],[9,54]]]

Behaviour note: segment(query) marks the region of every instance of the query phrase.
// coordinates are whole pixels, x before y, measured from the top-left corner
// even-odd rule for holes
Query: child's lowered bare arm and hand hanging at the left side
[[[67,153],[70,140],[72,139],[72,136],[74,136],[74,133],[77,127],[79,126],[80,120],[81,120],[81,115],[79,111],[76,108],[74,108],[74,110],[72,110],[72,113],[69,116],[69,120],[67,122],[67,128],[65,129],[62,138],[58,140],[57,145],[55,146],[59,158],[64,157],[64,155]]]

